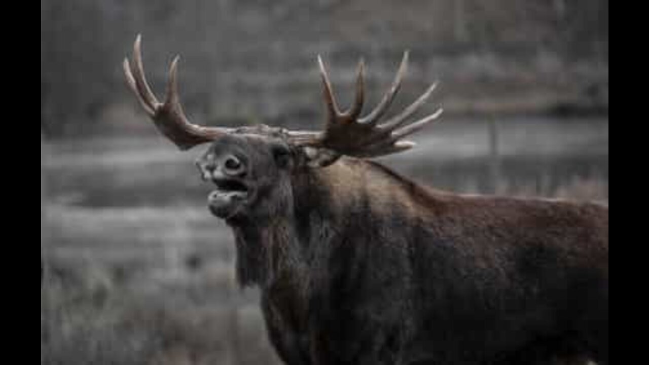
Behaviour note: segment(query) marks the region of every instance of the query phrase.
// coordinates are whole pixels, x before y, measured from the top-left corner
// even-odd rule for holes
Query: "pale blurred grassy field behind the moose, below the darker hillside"
[[[449,121],[386,158],[459,192],[608,203],[608,121]],[[153,129],[152,129],[153,134]],[[42,364],[278,364],[210,186],[162,138],[42,146]]]

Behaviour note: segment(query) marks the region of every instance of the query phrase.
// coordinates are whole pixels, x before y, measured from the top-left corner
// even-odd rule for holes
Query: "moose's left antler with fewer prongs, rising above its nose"
[[[202,127],[191,123],[187,119],[178,97],[176,75],[179,58],[176,56],[171,62],[169,81],[167,82],[167,96],[164,103],[158,101],[144,77],[140,34],[138,34],[138,38],[133,44],[133,64],[129,62],[129,58],[124,58],[123,66],[130,89],[135,93],[145,112],[153,119],[160,132],[184,151],[197,144],[212,142],[217,137],[232,132],[233,129]]]

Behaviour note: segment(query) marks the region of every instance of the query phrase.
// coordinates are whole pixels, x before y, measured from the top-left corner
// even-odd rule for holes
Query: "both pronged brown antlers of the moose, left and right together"
[[[169,68],[169,81],[167,82],[167,95],[164,103],[158,101],[144,76],[140,34],[138,34],[133,45],[133,62],[129,62],[128,58],[124,59],[124,73],[130,89],[140,101],[145,112],[153,119],[158,130],[181,150],[212,142],[219,136],[237,131],[234,128],[203,127],[188,120],[178,97],[178,59],[178,56],[175,57]],[[363,61],[359,62],[356,74],[356,97],[354,103],[346,112],[339,111],[329,76],[319,56],[318,64],[323,80],[324,101],[326,102],[328,116],[325,130],[323,132],[282,131],[293,145],[316,147],[324,150],[330,162],[341,155],[377,157],[410,149],[415,144],[402,140],[402,138],[419,131],[424,125],[435,120],[442,112],[441,108],[439,108],[436,112],[421,120],[406,124],[407,119],[426,102],[426,99],[433,92],[437,85],[437,83],[434,83],[419,99],[400,114],[382,124],[378,124],[401,86],[408,65],[408,52],[404,53],[397,76],[386,95],[374,110],[363,118],[359,118],[363,108],[364,95],[363,71],[365,66]]]

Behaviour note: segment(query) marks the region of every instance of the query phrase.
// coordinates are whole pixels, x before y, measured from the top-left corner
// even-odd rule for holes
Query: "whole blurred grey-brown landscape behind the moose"
[[[162,96],[182,55],[195,123],[319,129],[321,54],[341,104],[367,105],[402,52],[391,110],[439,81],[442,121],[382,162],[456,192],[608,203],[607,0],[41,1],[42,364],[276,364],[258,292],[209,184],[125,87],[143,36]]]

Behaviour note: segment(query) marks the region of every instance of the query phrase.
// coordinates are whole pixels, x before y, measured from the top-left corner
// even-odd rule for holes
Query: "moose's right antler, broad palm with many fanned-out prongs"
[[[395,80],[384,95],[383,99],[376,105],[367,116],[359,118],[363,108],[363,71],[365,66],[361,60],[356,72],[356,96],[349,110],[340,112],[336,103],[336,97],[332,91],[329,76],[324,68],[322,58],[318,56],[320,75],[324,87],[324,101],[327,107],[328,118],[324,132],[314,134],[312,132],[289,132],[291,138],[297,144],[311,147],[324,147],[337,155],[349,155],[355,157],[377,157],[389,155],[410,149],[415,144],[402,138],[419,131],[425,125],[437,119],[442,113],[439,108],[433,114],[406,124],[408,118],[419,109],[426,99],[432,94],[437,82],[432,84],[424,94],[414,103],[404,109],[400,114],[387,120],[382,124],[378,121],[384,116],[397,94],[401,81],[408,67],[408,51],[404,53],[401,64],[398,68]]]

